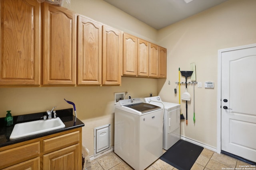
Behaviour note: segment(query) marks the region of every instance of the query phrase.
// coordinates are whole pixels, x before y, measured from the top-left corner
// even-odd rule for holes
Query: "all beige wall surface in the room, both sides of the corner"
[[[122,86],[118,87],[0,88],[0,117],[6,115],[6,110],[20,115],[46,111],[53,106],[70,108],[64,102],[66,98],[76,104],[78,118],[85,123],[83,144],[90,150],[89,155],[93,155],[94,127],[111,123],[111,145],[114,145],[114,92],[127,91],[133,98],[159,93],[163,100],[178,103],[178,95],[174,94],[178,68],[190,70],[190,63],[194,62],[196,80],[213,81],[214,89],[195,88],[196,123],[192,121],[193,102],[188,102],[188,126],[182,121],[181,134],[216,148],[218,49],[256,43],[255,9],[255,0],[230,0],[156,31],[103,0],[71,0],[70,10],[166,47],[167,79],[122,77]],[[182,93],[184,88],[181,87]],[[188,92],[192,96],[192,86],[188,86]],[[185,102],[181,105],[185,114]]]

